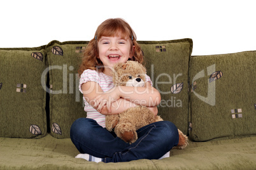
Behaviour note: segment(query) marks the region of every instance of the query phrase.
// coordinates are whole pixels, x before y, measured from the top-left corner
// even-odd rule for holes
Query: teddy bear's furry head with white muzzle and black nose
[[[146,82],[146,68],[139,62],[127,61],[113,67],[115,86],[143,87]]]

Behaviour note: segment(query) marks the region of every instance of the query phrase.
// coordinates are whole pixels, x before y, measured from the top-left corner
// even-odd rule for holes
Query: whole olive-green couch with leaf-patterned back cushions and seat
[[[0,48],[0,169],[256,169],[256,51],[191,56],[192,39],[138,41],[159,115],[189,136],[162,160],[88,162],[69,138],[86,117],[78,67],[88,41]]]

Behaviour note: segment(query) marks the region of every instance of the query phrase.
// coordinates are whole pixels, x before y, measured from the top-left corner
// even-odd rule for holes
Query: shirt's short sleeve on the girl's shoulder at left
[[[99,74],[96,70],[87,69],[83,71],[79,81],[79,90],[81,93],[83,93],[82,84],[89,81],[97,82],[99,84]]]

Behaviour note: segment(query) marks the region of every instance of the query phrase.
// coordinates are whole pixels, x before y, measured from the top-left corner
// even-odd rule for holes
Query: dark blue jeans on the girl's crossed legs
[[[103,158],[103,162],[159,159],[179,141],[178,129],[169,121],[154,122],[137,133],[138,140],[130,145],[93,119],[80,118],[71,126],[70,136],[81,154]]]

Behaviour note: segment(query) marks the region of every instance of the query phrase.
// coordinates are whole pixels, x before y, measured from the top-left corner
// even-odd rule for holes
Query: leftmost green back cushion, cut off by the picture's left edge
[[[0,136],[45,136],[45,46],[0,49]]]

